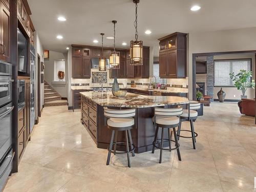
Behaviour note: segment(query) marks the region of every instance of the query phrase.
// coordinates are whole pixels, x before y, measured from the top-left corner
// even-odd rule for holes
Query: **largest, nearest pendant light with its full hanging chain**
[[[131,56],[131,65],[133,66],[142,66],[143,65],[143,41],[138,41],[138,15],[137,15],[137,9],[138,9],[138,3],[139,0],[133,0],[133,3],[135,3],[135,40],[131,40],[131,48],[130,48],[130,56]]]

